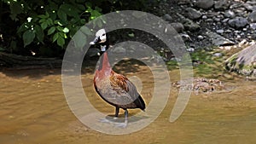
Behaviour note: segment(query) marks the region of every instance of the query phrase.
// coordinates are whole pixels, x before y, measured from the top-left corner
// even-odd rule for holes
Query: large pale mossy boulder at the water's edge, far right
[[[246,49],[232,55],[225,61],[225,68],[232,72],[250,76],[256,67],[256,45],[251,45]]]

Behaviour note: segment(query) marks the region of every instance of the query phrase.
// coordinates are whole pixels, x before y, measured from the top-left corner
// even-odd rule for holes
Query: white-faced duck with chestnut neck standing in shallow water
[[[119,109],[125,111],[124,125],[128,124],[128,109],[139,108],[145,112],[145,102],[137,88],[124,75],[114,72],[108,60],[107,50],[109,49],[108,35],[105,29],[96,32],[95,39],[90,45],[100,44],[100,64],[94,76],[94,88],[103,101],[115,107],[114,119],[119,117]]]

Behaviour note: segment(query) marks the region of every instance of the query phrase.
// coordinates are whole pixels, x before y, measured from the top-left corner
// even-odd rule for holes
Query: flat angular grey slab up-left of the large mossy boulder
[[[209,37],[212,40],[212,44],[216,46],[222,46],[222,45],[233,45],[234,42],[230,41],[229,39],[226,39],[225,37],[222,37],[218,35],[215,32],[210,31],[207,29],[206,32],[207,37]]]

